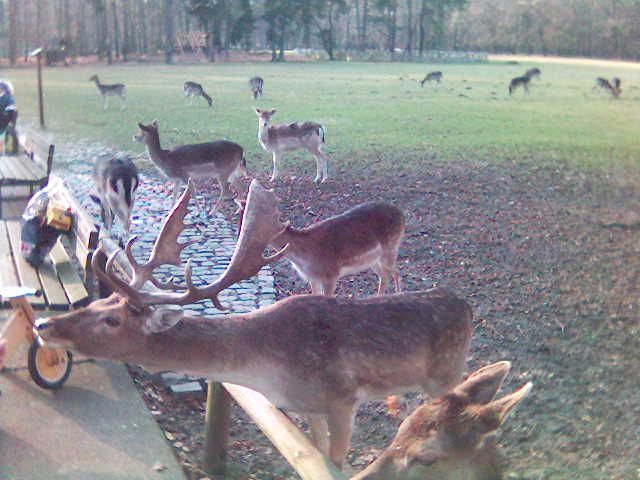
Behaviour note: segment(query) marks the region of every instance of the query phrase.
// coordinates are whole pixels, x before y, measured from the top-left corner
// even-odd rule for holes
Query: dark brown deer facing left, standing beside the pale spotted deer
[[[180,183],[186,183],[189,178],[215,178],[218,181],[220,196],[212,213],[218,210],[224,197],[233,196],[231,187],[235,190],[237,203],[245,198],[242,177],[247,175],[247,163],[244,151],[237,143],[218,140],[163,150],[157,121],[154,120],[149,125],[138,123],[138,128],[134,141],[147,146],[151,161],[174,182],[173,202],[180,192]]]

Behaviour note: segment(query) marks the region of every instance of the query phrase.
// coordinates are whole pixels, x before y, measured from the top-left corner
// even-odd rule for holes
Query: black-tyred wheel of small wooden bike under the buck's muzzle
[[[29,347],[27,365],[31,378],[38,386],[57,390],[71,374],[73,355],[64,348],[42,347],[34,340]]]

